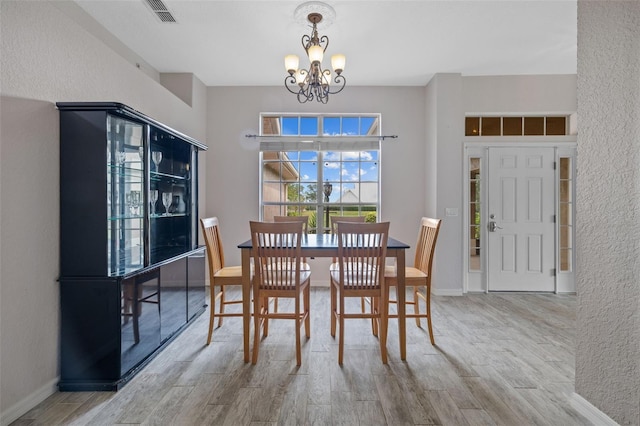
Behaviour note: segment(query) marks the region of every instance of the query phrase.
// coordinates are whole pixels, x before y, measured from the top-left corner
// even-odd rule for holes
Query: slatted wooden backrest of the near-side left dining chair
[[[293,290],[299,286],[302,222],[250,221],[249,227],[255,279],[260,288]]]

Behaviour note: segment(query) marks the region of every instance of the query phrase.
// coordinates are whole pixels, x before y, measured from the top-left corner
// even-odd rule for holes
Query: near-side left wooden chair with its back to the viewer
[[[309,317],[311,271],[302,269],[301,222],[249,222],[253,246],[253,357],[258,362],[260,328],[269,333],[269,319],[295,320],[296,362],[302,364],[300,327],[311,337]],[[294,312],[270,312],[269,298],[294,299]],[[300,308],[302,302],[302,310]]]

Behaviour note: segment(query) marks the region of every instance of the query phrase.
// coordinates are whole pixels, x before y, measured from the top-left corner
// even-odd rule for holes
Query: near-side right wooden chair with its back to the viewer
[[[387,363],[389,289],[385,283],[384,270],[388,236],[389,222],[337,224],[338,269],[330,271],[331,336],[335,338],[337,323],[340,328],[340,365],[344,354],[344,320],[351,318],[370,318],[376,322],[374,335],[377,334],[380,341],[382,363]],[[345,300],[349,297],[371,298],[371,311],[347,312]]]

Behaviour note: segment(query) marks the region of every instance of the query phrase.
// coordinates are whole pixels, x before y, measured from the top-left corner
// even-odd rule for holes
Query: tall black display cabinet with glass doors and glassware
[[[114,102],[59,102],[61,391],[117,390],[205,305],[198,151]]]

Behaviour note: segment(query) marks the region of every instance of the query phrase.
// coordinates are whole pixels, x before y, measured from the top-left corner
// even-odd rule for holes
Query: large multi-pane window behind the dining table
[[[380,211],[380,116],[261,115],[260,217],[309,216],[309,232],[330,232],[330,216]]]

